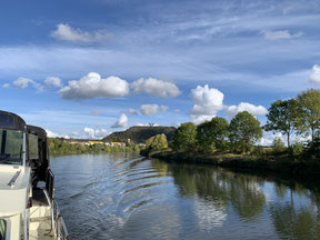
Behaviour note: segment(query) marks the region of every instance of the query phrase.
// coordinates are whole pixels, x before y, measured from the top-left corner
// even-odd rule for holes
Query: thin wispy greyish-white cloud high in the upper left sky
[[[109,40],[112,38],[112,34],[103,30],[88,32],[81,29],[73,29],[68,24],[60,23],[57,26],[57,29],[51,32],[51,37],[62,41],[91,43]]]

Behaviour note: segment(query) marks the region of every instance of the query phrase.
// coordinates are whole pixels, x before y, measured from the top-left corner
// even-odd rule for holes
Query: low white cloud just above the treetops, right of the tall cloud
[[[226,108],[228,117],[233,118],[237,113],[248,111],[252,116],[263,116],[268,113],[268,110],[262,106],[253,106],[248,102],[241,102],[238,106],[229,106]]]

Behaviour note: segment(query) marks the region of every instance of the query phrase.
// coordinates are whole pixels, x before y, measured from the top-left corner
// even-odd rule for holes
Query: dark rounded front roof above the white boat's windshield
[[[26,127],[24,120],[18,114],[0,110],[0,129],[27,131]]]

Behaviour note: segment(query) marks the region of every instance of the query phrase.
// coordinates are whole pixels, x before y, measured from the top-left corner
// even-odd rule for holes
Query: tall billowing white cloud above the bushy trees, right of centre
[[[218,89],[198,86],[191,90],[194,102],[191,109],[191,120],[198,124],[216,117],[217,112],[223,109],[223,93]]]

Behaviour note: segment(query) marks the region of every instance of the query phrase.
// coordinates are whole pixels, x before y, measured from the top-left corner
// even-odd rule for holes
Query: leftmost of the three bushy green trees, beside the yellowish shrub
[[[174,132],[172,149],[190,151],[196,146],[197,127],[192,122],[182,123]]]

